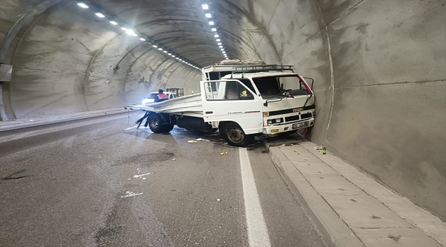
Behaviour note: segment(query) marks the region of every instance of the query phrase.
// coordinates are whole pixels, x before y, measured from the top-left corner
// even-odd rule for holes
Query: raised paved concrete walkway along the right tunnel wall
[[[323,155],[303,139],[268,144],[328,246],[446,246],[445,222],[330,152]]]

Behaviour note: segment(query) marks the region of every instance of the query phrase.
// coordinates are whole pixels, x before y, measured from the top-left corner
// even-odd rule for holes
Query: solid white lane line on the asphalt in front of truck
[[[245,199],[246,228],[250,247],[268,247],[270,237],[260,206],[259,194],[255,187],[253,169],[246,148],[239,149],[240,168],[242,170],[243,196]]]

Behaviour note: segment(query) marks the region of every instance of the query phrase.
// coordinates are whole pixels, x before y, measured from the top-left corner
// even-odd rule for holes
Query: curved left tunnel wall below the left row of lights
[[[9,114],[18,119],[140,104],[148,92],[174,85],[188,84],[185,93],[199,89],[200,71],[111,31],[108,22],[97,21],[75,1],[62,1],[36,17],[15,43],[5,98]],[[176,70],[183,77],[171,79]]]

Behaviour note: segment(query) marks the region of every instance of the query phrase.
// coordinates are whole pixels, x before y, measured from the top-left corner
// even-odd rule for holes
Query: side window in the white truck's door
[[[246,86],[236,81],[206,82],[207,100],[250,100],[254,96]]]

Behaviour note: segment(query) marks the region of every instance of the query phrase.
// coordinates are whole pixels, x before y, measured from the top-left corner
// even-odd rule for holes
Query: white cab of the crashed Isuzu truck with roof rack
[[[314,125],[312,79],[291,65],[225,65],[202,72],[204,121],[213,126],[233,121],[250,135],[292,134]]]

